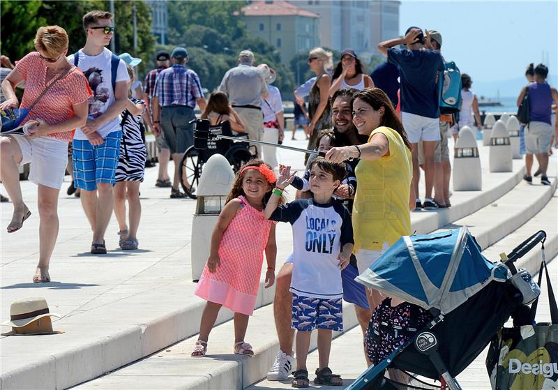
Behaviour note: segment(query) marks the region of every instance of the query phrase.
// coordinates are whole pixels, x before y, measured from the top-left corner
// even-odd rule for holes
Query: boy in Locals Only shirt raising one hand
[[[296,173],[296,172],[295,172]],[[293,230],[292,328],[296,329],[296,372],[293,387],[308,387],[306,357],[312,330],[318,329],[319,368],[314,384],[341,386],[329,369],[331,331],[342,331],[341,270],[349,264],[354,241],[349,210],[332,198],[345,178],[345,165],[316,158],[310,165],[312,199],[278,206],[292,183],[290,167],[280,167],[276,188],[264,210],[266,218],[289,222]]]

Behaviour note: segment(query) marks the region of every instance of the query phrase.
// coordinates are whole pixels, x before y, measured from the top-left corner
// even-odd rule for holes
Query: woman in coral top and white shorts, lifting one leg
[[[13,202],[13,217],[8,233],[22,228],[31,216],[22,199],[17,167],[31,163],[29,179],[38,186],[39,261],[33,282],[50,282],[48,267],[58,236],[58,193],[68,164],[68,142],[74,129],[87,120],[91,89],[81,70],[66,59],[68,34],[58,26],[40,27],[35,36],[36,52],[17,61],[2,82],[6,101],[0,110],[33,105],[22,123],[36,121],[26,135],[7,135],[0,139],[0,180]],[[21,104],[15,86],[25,81]],[[51,83],[47,92],[40,97]],[[40,99],[38,99],[40,97]]]

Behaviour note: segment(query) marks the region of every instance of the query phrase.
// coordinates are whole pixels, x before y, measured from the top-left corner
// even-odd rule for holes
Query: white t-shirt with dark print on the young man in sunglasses
[[[77,67],[82,70],[89,87],[93,91],[93,96],[89,98],[89,119],[100,117],[108,110],[110,105],[114,103],[114,91],[112,91],[112,74],[110,61],[112,59],[112,52],[106,47],[103,52],[96,56],[88,56],[81,49],[78,52],[80,59]],[[68,57],[70,63],[74,63],[74,54]],[[118,70],[116,71],[116,82],[128,81],[128,70],[126,70],[126,63],[120,60]],[[114,131],[120,130],[120,117],[117,116],[111,121],[103,124],[97,133],[105,138],[107,135]],[[87,140],[86,135],[80,128],[75,129],[75,140]]]

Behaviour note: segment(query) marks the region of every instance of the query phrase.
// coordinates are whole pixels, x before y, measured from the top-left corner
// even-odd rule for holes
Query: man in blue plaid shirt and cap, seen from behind
[[[153,93],[153,128],[163,130],[174,161],[172,198],[185,197],[179,190],[179,167],[183,153],[194,144],[194,108],[197,103],[202,112],[206,101],[197,74],[186,68],[188,51],[175,47],[171,54],[172,66],[162,70],[155,81]]]

